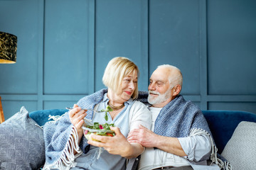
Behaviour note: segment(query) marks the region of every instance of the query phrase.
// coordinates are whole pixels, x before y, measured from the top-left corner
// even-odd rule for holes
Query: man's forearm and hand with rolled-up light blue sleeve
[[[165,152],[176,154],[180,157],[187,156],[191,161],[200,161],[210,153],[210,137],[208,135],[192,137],[164,137],[156,135],[151,130],[140,126],[128,135],[129,142],[139,142],[144,147],[157,147]]]

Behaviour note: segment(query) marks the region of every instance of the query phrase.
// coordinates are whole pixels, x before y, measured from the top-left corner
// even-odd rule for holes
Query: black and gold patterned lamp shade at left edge
[[[17,37],[0,31],[0,63],[16,62]]]

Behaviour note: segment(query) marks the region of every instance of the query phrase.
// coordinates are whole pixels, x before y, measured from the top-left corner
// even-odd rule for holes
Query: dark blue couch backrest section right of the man
[[[203,111],[213,139],[221,154],[241,121],[256,122],[256,114],[245,111]]]

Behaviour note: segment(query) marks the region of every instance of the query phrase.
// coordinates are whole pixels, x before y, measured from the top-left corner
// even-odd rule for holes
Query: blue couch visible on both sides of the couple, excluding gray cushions
[[[49,109],[33,111],[29,116],[42,126],[48,121],[48,115],[63,115],[66,109]],[[213,139],[218,147],[218,153],[221,154],[228,140],[233,135],[235,128],[241,121],[250,121],[256,123],[256,114],[245,111],[203,111]]]

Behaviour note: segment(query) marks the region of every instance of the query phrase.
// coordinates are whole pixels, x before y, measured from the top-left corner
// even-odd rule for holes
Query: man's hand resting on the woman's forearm
[[[139,129],[132,130],[129,132],[127,137],[128,142],[137,142],[143,147],[156,147],[157,137],[151,130],[145,128],[142,125],[139,125]]]

